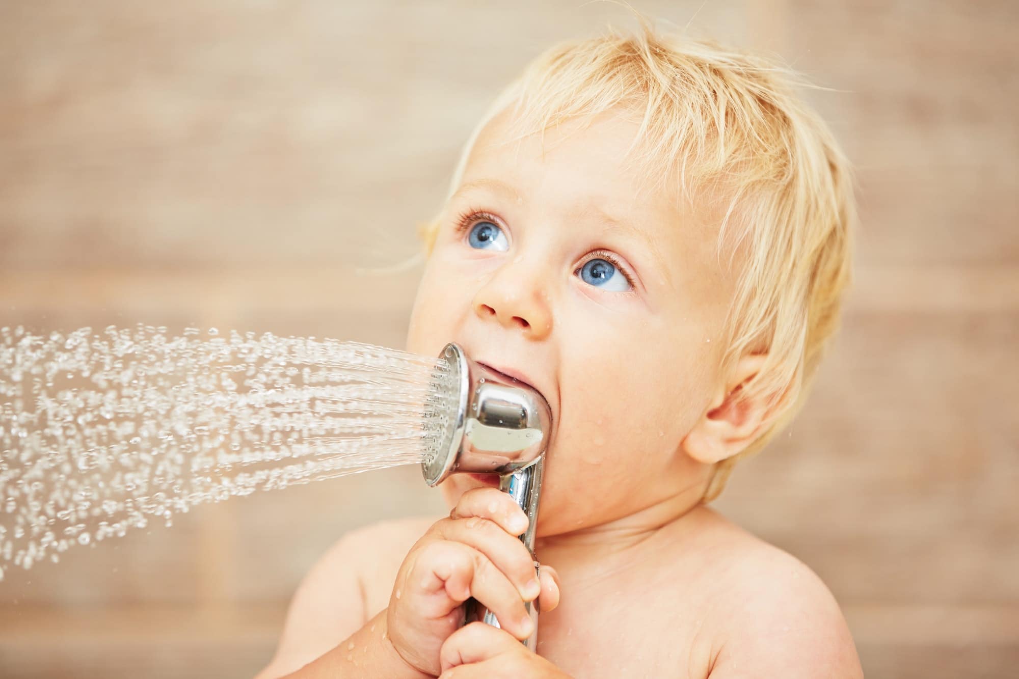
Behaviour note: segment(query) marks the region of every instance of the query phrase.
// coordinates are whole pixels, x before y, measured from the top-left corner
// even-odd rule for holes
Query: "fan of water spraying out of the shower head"
[[[0,328],[0,446],[17,451],[0,488],[0,510],[12,515],[0,526],[0,564],[53,560],[156,518],[171,525],[202,503],[419,464],[460,396],[448,363],[436,371],[431,357],[219,334]],[[64,388],[68,378],[82,383]],[[409,407],[423,403],[430,417]]]

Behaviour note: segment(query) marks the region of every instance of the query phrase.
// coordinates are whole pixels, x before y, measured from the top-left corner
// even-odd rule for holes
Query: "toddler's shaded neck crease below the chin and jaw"
[[[539,537],[535,540],[535,552],[541,561],[558,568],[583,563],[607,564],[612,557],[638,549],[665,529],[683,530],[691,523],[684,518],[701,506],[711,467],[705,466],[702,472],[695,474],[696,478],[678,491],[627,516],[568,533]]]

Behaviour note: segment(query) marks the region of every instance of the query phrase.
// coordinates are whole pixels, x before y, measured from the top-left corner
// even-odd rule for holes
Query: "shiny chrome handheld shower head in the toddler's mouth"
[[[448,363],[449,372],[437,379],[436,398],[426,405],[427,428],[433,438],[421,464],[425,481],[434,486],[454,473],[500,474],[499,489],[509,493],[527,515],[528,527],[520,539],[533,558],[544,453],[552,424],[548,403],[531,386],[471,360],[455,343],[446,345],[439,356]],[[539,569],[537,560],[534,567]],[[534,632],[524,643],[535,650],[537,602],[525,606]],[[471,599],[465,607],[465,623],[475,619],[499,626],[491,612]]]

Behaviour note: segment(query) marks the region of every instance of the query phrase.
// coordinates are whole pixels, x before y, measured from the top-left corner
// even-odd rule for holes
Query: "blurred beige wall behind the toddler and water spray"
[[[844,331],[813,401],[717,507],[824,578],[869,677],[1015,676],[1019,4],[634,4],[696,13],[696,35],[834,88],[810,98],[859,166]],[[530,57],[630,24],[580,5],[4,2],[0,325],[403,346],[419,271],[355,266],[415,252],[474,121]],[[12,570],[0,676],[250,676],[343,531],[441,510],[401,468]]]

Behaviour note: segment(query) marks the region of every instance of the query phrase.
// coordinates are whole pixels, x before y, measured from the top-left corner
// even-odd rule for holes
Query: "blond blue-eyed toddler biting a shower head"
[[[642,21],[496,99],[422,228],[407,349],[548,401],[540,577],[497,476],[454,474],[447,517],[322,558],[260,677],[862,676],[824,584],[707,506],[802,406],[849,280],[849,166],[796,84]],[[469,597],[501,628],[461,628]]]

